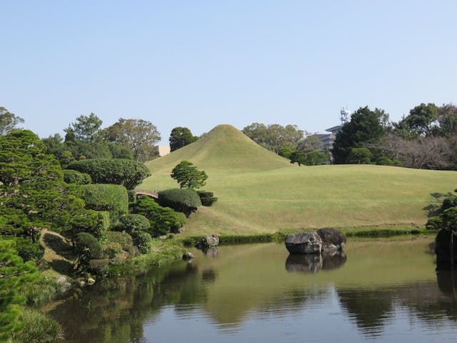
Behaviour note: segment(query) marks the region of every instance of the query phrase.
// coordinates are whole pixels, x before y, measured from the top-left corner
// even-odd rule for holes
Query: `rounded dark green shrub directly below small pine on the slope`
[[[158,201],[162,207],[171,207],[175,211],[183,212],[186,217],[201,206],[199,194],[194,189],[166,189],[159,192]]]

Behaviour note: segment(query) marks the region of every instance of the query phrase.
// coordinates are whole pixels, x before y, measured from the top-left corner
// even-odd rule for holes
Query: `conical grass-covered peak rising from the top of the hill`
[[[198,141],[146,163],[151,172],[171,172],[180,161],[211,172],[255,172],[290,166],[287,159],[256,144],[231,125],[218,125]]]

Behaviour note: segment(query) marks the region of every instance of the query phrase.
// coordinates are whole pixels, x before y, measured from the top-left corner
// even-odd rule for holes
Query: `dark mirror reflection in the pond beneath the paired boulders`
[[[286,259],[286,270],[292,273],[316,274],[322,270],[340,268],[346,263],[344,252],[325,254],[290,254]]]

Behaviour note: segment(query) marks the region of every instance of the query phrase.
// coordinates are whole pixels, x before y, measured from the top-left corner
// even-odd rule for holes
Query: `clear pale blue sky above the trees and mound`
[[[398,121],[457,103],[457,1],[0,0],[0,106],[39,134],[94,112],[195,135],[321,132],[343,106]]]

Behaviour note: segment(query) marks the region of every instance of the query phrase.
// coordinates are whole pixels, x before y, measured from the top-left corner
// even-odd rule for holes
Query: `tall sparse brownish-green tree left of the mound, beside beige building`
[[[149,161],[158,156],[156,144],[161,136],[150,121],[121,118],[115,124],[104,129],[108,141],[128,146],[134,159]]]

